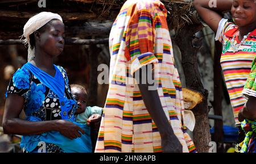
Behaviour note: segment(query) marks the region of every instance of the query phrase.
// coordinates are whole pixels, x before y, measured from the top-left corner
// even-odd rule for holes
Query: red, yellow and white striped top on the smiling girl
[[[224,21],[225,19],[221,20],[221,22]],[[217,33],[220,33],[218,40],[223,44],[220,60],[222,72],[233,107],[236,126],[239,126],[241,123],[238,121],[238,112],[247,101],[242,96],[242,90],[250,73],[251,62],[253,62],[256,56],[256,30],[250,33],[245,43],[240,45],[239,51],[235,53],[233,52],[234,48],[230,45],[230,41],[236,35],[235,40],[238,44],[240,43],[238,40],[238,26],[232,22],[225,22],[224,26],[221,26],[220,23]]]

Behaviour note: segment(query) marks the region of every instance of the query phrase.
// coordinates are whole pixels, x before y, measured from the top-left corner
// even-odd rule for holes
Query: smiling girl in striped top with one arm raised
[[[256,3],[255,0],[216,0],[214,3],[209,0],[194,1],[197,12],[216,32],[215,39],[223,45],[220,60],[222,72],[236,127],[240,128],[238,113],[246,103],[242,90],[256,56]],[[234,23],[223,19],[218,13],[228,10],[232,12]]]

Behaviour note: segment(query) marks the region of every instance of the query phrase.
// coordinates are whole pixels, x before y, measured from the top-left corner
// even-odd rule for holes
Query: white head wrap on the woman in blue
[[[63,22],[59,14],[54,14],[52,12],[40,12],[28,19],[25,24],[23,28],[23,36],[25,37],[24,44],[28,44],[28,61],[31,61],[35,56],[35,47],[32,49],[30,45],[30,35],[52,19],[58,19]]]

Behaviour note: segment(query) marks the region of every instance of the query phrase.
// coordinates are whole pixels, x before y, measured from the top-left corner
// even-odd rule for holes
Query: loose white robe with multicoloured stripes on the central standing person
[[[128,0],[115,19],[109,37],[110,85],[95,152],[162,152],[158,128],[133,78],[147,64],[154,64],[160,101],[183,152],[196,151],[183,132],[182,89],[166,16],[158,0]]]

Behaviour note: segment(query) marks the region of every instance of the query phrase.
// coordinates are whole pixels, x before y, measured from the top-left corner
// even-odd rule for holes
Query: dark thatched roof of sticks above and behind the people
[[[194,11],[192,1],[162,0],[168,10],[167,19],[170,27],[176,32],[186,24],[192,23],[191,15]],[[79,37],[82,33],[81,36],[85,37],[88,36],[86,31],[80,31],[81,27],[87,26],[86,22],[91,20],[96,20],[98,23],[113,22],[124,2],[125,0],[46,0],[46,8],[40,8],[38,0],[1,0],[0,22],[3,23],[0,26],[0,39],[18,39],[28,18],[41,11],[57,12],[68,27],[67,33],[70,33],[70,36]],[[110,27],[107,29],[110,30]]]

